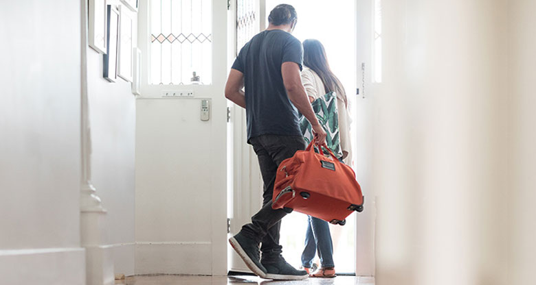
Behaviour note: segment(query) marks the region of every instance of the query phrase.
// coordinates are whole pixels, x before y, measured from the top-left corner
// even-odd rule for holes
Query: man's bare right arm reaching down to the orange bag
[[[317,143],[326,143],[326,132],[320,123],[318,123],[315,111],[313,111],[313,107],[311,106],[305,88],[303,87],[300,66],[295,62],[283,62],[281,73],[283,76],[284,88],[287,89],[290,101],[313,126],[313,131],[317,136]]]

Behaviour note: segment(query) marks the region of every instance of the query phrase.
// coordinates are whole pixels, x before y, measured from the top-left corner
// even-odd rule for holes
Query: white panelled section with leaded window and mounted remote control
[[[225,275],[227,1],[138,12],[136,273]]]

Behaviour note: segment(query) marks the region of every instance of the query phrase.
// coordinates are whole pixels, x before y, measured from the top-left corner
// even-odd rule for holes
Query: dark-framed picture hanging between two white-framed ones
[[[118,79],[118,38],[119,38],[119,11],[107,7],[107,53],[104,54],[103,76],[109,82]]]

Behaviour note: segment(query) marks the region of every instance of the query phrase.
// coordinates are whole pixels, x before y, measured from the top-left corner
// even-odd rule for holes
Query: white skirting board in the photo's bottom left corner
[[[85,249],[0,250],[0,284],[84,285]]]

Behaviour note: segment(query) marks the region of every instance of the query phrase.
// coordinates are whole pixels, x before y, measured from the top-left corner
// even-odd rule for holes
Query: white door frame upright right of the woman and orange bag
[[[359,94],[353,110],[353,137],[355,150],[355,173],[365,196],[365,210],[357,215],[355,274],[359,276],[375,275],[375,220],[376,197],[372,187],[372,116],[374,108],[374,88],[372,84],[372,42],[374,39],[374,4],[375,0],[355,0],[356,65],[357,86]],[[364,64],[364,66],[362,65]],[[359,225],[359,227],[358,227]]]

